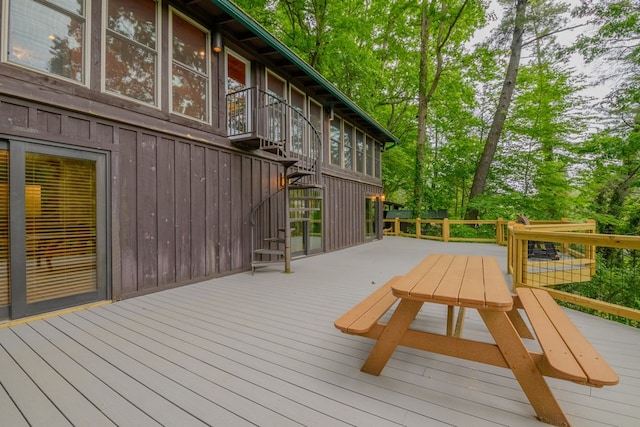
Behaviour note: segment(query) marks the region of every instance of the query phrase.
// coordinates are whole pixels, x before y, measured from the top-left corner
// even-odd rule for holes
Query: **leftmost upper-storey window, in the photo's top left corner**
[[[85,83],[86,9],[84,0],[9,1],[2,59]]]

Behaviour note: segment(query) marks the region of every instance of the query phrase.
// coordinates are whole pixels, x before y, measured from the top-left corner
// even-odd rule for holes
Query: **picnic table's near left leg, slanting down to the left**
[[[409,329],[409,325],[416,318],[422,302],[402,299],[385,326],[382,334],[369,353],[369,357],[360,369],[371,375],[380,375],[391,355],[402,340],[402,336]]]

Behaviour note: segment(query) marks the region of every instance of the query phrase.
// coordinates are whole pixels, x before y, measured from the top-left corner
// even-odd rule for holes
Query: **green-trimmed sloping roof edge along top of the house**
[[[318,84],[324,87],[331,95],[335,96],[345,104],[347,107],[356,112],[359,116],[361,116],[364,120],[368,121],[372,126],[377,128],[380,133],[385,135],[388,139],[387,142],[393,142],[394,145],[399,144],[400,141],[398,138],[393,135],[389,130],[387,130],[384,126],[382,126],[376,119],[371,117],[368,113],[366,113],[362,108],[360,108],[355,102],[353,102],[347,95],[342,93],[340,89],[338,89],[333,83],[327,80],[322,76],[318,71],[316,71],[311,65],[309,65],[304,59],[300,58],[294,51],[289,49],[284,43],[278,40],[273,34],[271,34],[266,28],[264,28],[259,22],[249,16],[245,11],[243,11],[236,4],[231,2],[230,0],[210,0],[212,3],[216,4],[226,13],[231,15],[234,19],[239,21],[244,27],[253,32],[256,36],[260,37],[264,40],[269,46],[282,54],[285,58],[295,64],[297,67],[302,69],[305,73],[307,73],[310,77],[312,77]]]

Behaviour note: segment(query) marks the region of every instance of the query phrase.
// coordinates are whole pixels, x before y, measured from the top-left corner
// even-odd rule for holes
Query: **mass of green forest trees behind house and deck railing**
[[[640,233],[636,0],[236,3],[401,140],[387,200]]]

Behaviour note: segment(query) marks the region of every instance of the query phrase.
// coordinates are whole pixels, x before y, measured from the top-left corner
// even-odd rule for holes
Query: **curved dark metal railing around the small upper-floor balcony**
[[[231,141],[297,160],[290,173],[316,174],[321,155],[319,131],[304,112],[256,87],[227,95],[227,133]]]

